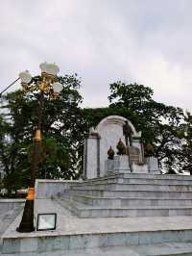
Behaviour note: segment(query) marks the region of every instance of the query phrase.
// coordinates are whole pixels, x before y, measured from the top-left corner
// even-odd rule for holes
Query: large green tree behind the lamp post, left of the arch
[[[37,84],[40,77],[34,77]],[[63,90],[57,99],[45,95],[42,115],[42,150],[36,178],[78,178],[81,136],[82,96],[77,75],[59,77]],[[26,187],[30,179],[33,135],[39,94],[21,90],[2,97],[0,123],[0,162],[5,172],[4,185],[11,192]]]

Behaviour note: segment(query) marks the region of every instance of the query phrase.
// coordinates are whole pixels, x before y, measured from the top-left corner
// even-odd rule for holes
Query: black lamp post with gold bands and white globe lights
[[[35,231],[34,226],[34,201],[35,201],[35,181],[36,181],[36,169],[38,166],[38,158],[40,153],[41,144],[41,120],[42,120],[42,109],[44,105],[44,95],[49,95],[52,99],[55,99],[60,91],[62,85],[57,82],[57,74],[60,68],[56,64],[40,64],[41,69],[41,81],[37,84],[30,84],[32,76],[28,70],[21,72],[19,78],[21,79],[21,86],[24,91],[39,91],[38,110],[37,110],[37,124],[36,132],[34,137],[34,149],[32,153],[31,162],[31,184],[28,189],[28,194],[24,206],[23,216],[21,218],[20,225],[17,227],[18,232],[33,232]]]

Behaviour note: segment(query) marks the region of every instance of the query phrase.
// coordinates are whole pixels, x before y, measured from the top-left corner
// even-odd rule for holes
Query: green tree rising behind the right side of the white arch
[[[137,115],[133,124],[142,131],[145,145],[154,146],[159,164],[174,172],[181,153],[180,128],[184,115],[180,108],[166,106],[153,99],[154,91],[143,85],[126,85],[122,82],[110,85],[110,108],[127,108]]]

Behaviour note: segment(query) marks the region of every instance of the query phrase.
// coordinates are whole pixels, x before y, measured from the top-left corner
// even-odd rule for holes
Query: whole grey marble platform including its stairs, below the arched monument
[[[35,209],[57,213],[57,230],[17,233],[18,216],[2,235],[2,256],[192,253],[191,176],[119,173],[60,181],[59,193],[56,184],[38,181]]]

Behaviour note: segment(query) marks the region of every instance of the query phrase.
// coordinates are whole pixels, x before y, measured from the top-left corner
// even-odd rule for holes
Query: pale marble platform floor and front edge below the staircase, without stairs
[[[45,207],[48,213],[58,213],[57,230],[17,233],[19,216],[2,236],[2,256],[192,253],[191,217],[77,218],[56,200],[36,200],[36,213]]]

